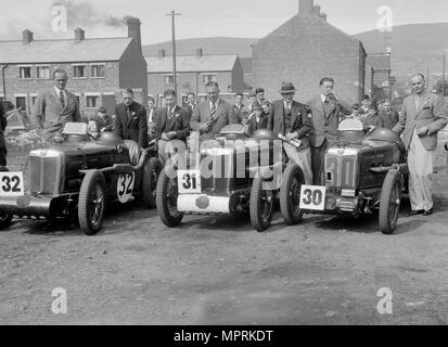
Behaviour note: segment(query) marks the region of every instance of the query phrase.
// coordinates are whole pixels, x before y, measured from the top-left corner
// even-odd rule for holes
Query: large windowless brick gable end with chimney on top
[[[322,77],[333,77],[347,102],[364,93],[366,50],[356,38],[327,22],[313,0],[300,0],[298,13],[253,46],[253,87],[280,98],[282,81],[293,81],[296,99],[308,101]]]

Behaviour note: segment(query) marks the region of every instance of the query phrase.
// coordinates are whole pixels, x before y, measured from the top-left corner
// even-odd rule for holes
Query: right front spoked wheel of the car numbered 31
[[[261,177],[254,179],[251,190],[251,222],[259,232],[271,224],[274,210],[274,194],[272,190],[264,190]],[[268,184],[268,182],[266,182]]]

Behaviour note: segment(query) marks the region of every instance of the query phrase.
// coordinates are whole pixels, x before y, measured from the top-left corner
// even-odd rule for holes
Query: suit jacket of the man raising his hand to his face
[[[311,146],[321,146],[325,139],[336,140],[337,127],[340,125],[341,117],[343,114],[350,114],[351,106],[342,100],[338,102],[331,100],[329,102],[330,112],[325,117],[320,94],[309,101],[308,105],[311,107],[312,127],[315,129],[313,133],[309,138]]]

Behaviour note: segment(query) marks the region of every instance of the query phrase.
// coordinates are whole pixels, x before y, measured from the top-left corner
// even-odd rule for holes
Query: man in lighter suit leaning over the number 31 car
[[[207,100],[193,111],[190,126],[200,132],[200,141],[213,139],[227,125],[236,123],[233,106],[219,98],[217,82],[206,85]]]

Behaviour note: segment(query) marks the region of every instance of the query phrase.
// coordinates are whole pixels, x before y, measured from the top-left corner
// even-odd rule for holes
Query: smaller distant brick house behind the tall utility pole
[[[174,88],[172,56],[158,51],[158,56],[145,56],[148,64],[148,92],[156,100],[157,105],[163,103],[163,93]],[[244,73],[238,55],[205,55],[202,49],[195,55],[178,55],[176,59],[178,94],[184,101],[187,93],[194,92],[200,100],[205,99],[205,85],[216,81],[221,95],[233,99],[234,92],[243,92]],[[230,97],[231,95],[231,97]],[[179,99],[180,101],[180,99]]]

